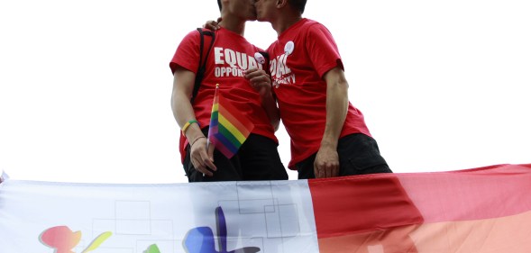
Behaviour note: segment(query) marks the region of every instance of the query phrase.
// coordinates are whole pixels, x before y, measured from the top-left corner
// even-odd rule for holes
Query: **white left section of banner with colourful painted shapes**
[[[307,181],[0,185],[0,252],[88,251],[319,252]]]

